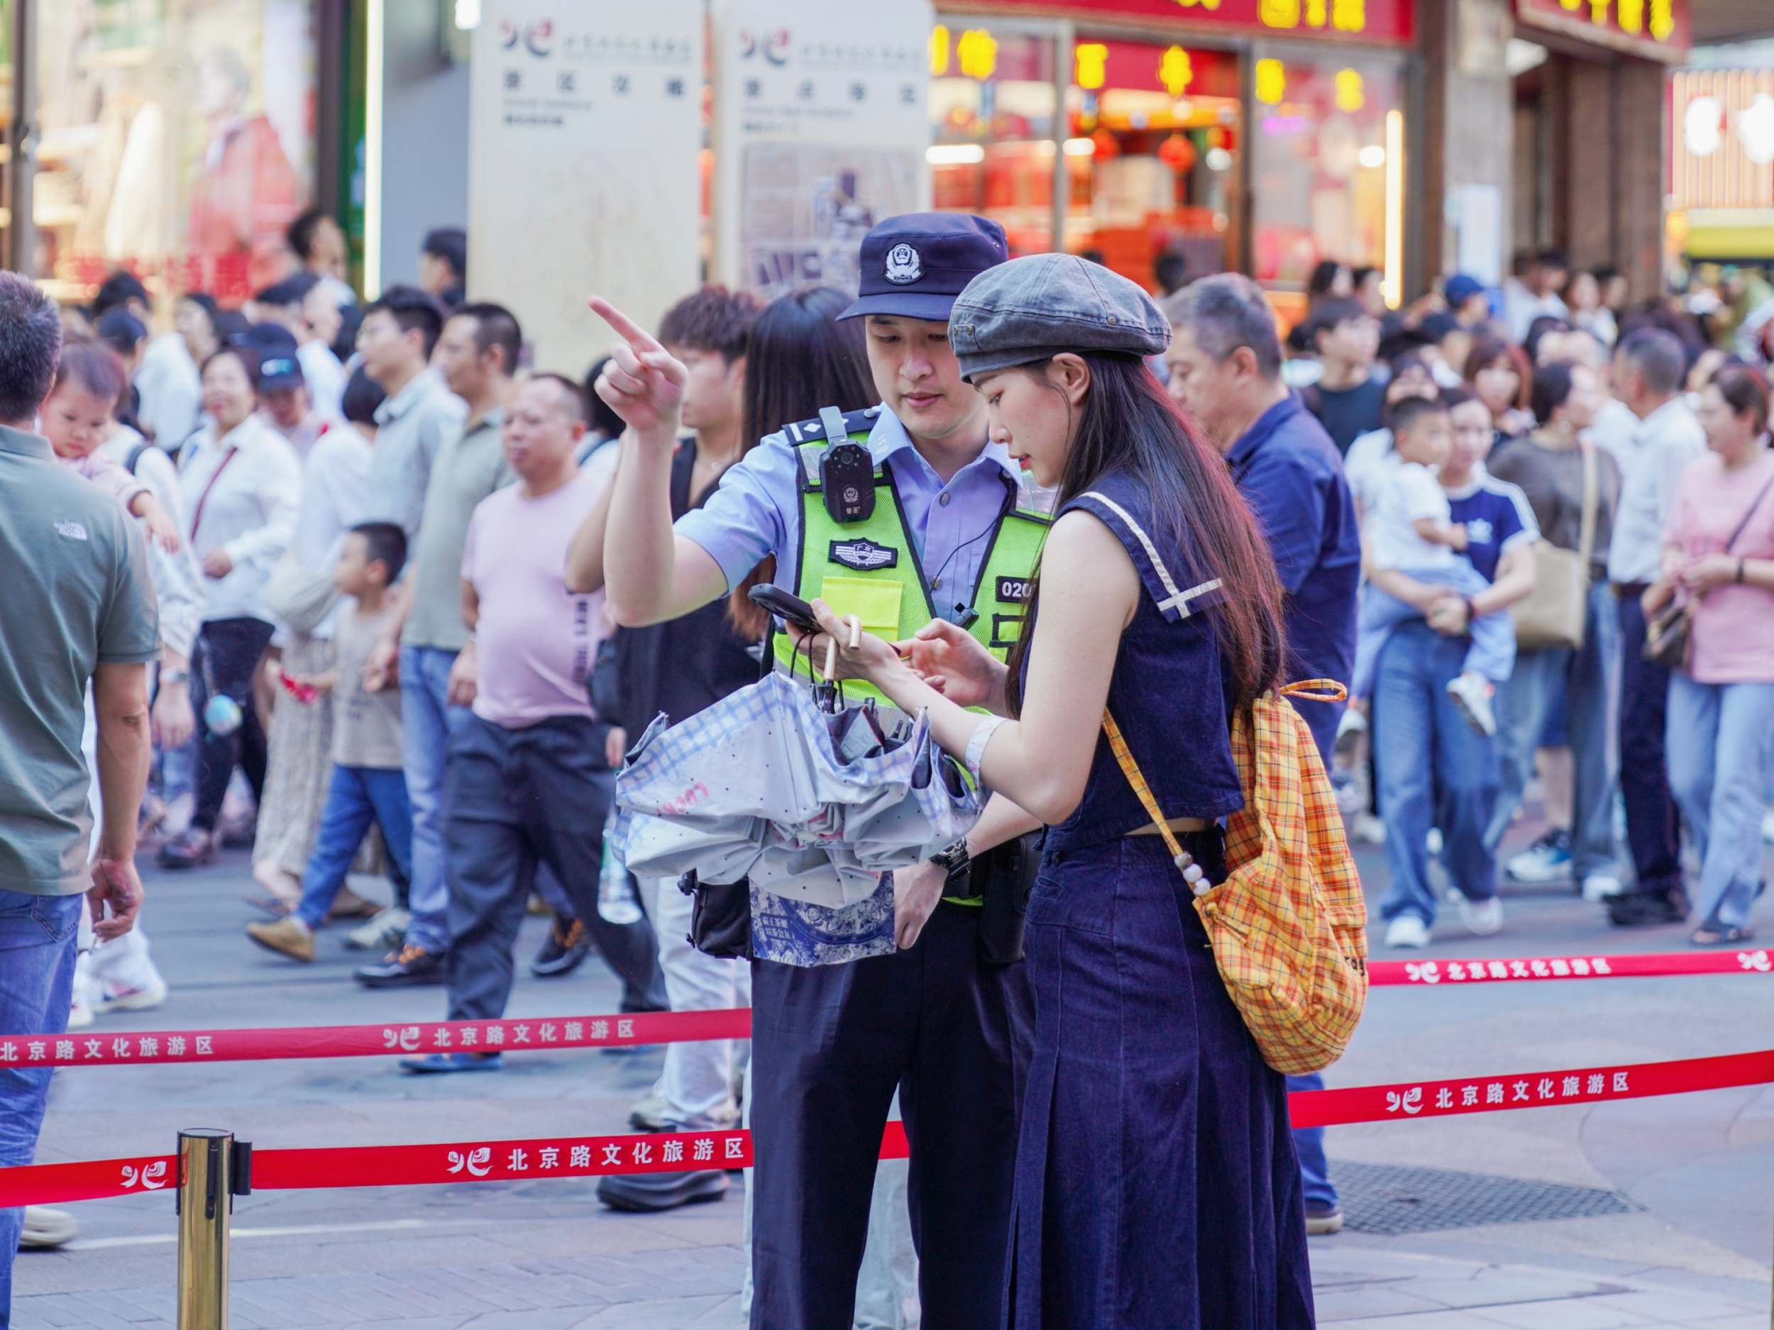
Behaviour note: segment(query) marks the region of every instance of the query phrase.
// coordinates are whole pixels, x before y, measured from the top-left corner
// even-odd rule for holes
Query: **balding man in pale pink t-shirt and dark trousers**
[[[511,995],[511,949],[546,864],[623,979],[623,1011],[665,1004],[653,927],[598,915],[603,819],[616,778],[608,725],[585,695],[603,637],[603,592],[566,589],[566,550],[608,481],[582,472],[585,395],[538,374],[506,413],[502,445],[520,484],[474,509],[461,557],[470,638],[451,670],[454,704],[474,715],[451,736],[444,787],[449,865],[449,1020],[491,1020]],[[408,1071],[475,1071],[498,1053],[403,1059]]]

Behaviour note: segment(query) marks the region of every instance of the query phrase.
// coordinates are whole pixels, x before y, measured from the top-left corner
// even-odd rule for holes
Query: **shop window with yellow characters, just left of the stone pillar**
[[[1252,273],[1306,291],[1334,259],[1378,268],[1398,301],[1403,207],[1400,73],[1371,59],[1302,62],[1260,53],[1254,67]]]

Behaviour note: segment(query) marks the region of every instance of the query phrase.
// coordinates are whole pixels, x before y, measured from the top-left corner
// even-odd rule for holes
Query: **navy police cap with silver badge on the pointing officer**
[[[944,319],[986,268],[1009,259],[1004,227],[972,213],[891,216],[862,238],[862,289],[839,319]]]

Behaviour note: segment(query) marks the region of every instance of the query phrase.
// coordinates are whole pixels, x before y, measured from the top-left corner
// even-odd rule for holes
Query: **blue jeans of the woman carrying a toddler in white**
[[[1497,748],[1460,718],[1448,681],[1464,669],[1467,644],[1426,622],[1403,624],[1380,649],[1373,685],[1373,766],[1385,862],[1393,883],[1380,903],[1387,920],[1435,922],[1428,881],[1428,832],[1440,826],[1442,865],[1469,901],[1497,894],[1497,857],[1485,842],[1497,803]]]

